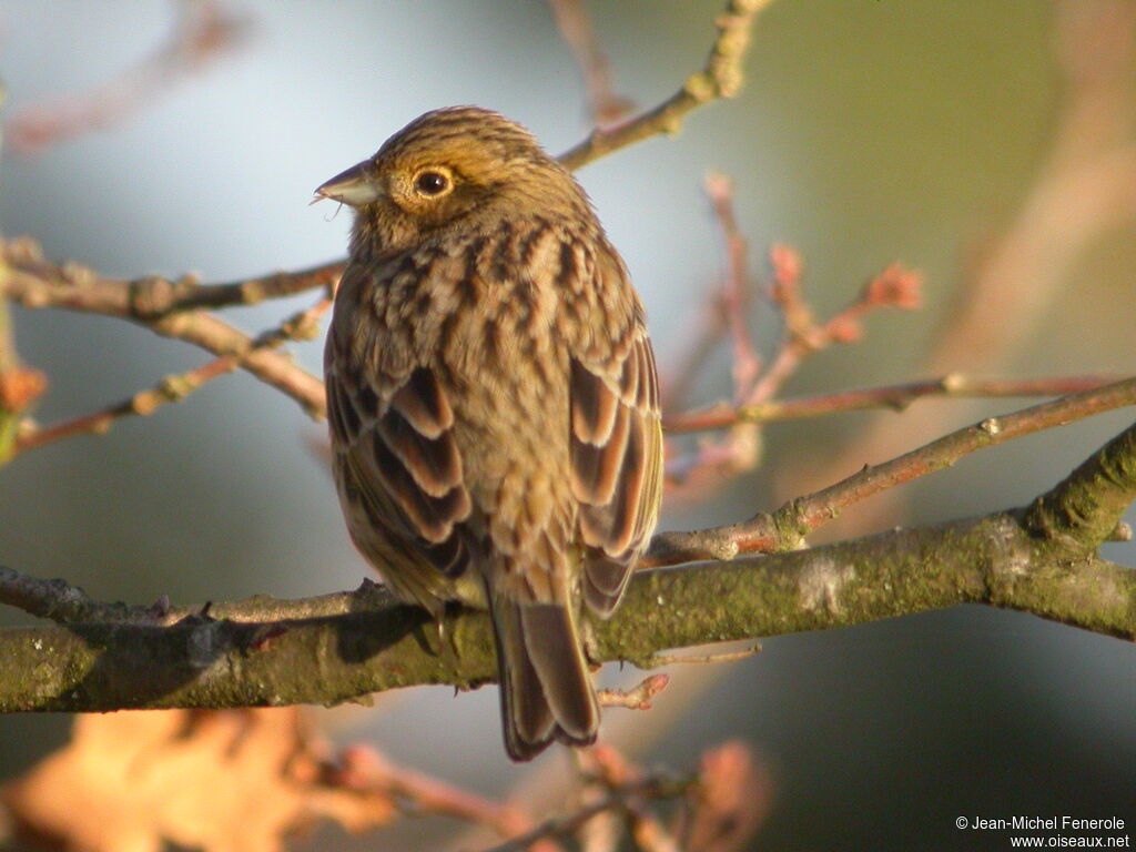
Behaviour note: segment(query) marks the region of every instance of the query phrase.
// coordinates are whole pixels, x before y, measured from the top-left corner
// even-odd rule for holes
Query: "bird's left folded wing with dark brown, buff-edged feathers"
[[[403,598],[437,611],[444,577],[461,575],[470,499],[453,410],[434,373],[414,369],[378,395],[327,370],[327,409],[352,538]]]

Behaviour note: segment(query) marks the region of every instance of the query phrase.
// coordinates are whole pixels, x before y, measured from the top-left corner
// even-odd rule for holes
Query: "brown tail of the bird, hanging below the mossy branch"
[[[532,760],[552,740],[594,743],[600,704],[569,605],[491,598],[509,757]]]

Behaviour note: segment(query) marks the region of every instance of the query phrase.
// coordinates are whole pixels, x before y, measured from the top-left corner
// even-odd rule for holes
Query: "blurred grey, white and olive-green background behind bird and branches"
[[[719,0],[592,2],[619,94],[638,107],[700,68]],[[570,50],[546,5],[231,0],[240,44],[105,128],[36,151],[6,142],[0,226],[53,260],[108,276],[229,281],[342,257],[350,216],[312,189],[420,112],[498,109],[553,152],[588,130]],[[810,359],[786,394],[963,370],[1131,373],[1136,190],[1110,175],[1136,116],[1134,5],[1119,0],[794,0],[757,24],[741,97],[578,173],[674,369],[721,283],[703,181],[734,181],[755,274],[774,242],[805,262],[820,317],[893,260],[926,276],[917,312],[876,312],[864,341]],[[5,0],[0,76],[15,119],[142,61],[169,37],[157,0]],[[1102,24],[1102,22],[1104,22]],[[1131,165],[1127,166],[1131,173]],[[1119,178],[1118,178],[1119,179]],[[250,332],[312,293],[226,319]],[[752,317],[766,352],[771,311]],[[15,309],[24,361],[47,373],[42,423],[101,408],[209,356],[126,323]],[[321,342],[294,348],[319,370]],[[730,393],[722,346],[692,401]],[[1024,403],[1022,403],[1024,404]],[[927,401],[905,414],[772,425],[762,465],[665,526],[742,519],[1017,401]],[[1097,417],[966,459],[853,508],[827,536],[1028,502],[1131,414]],[[324,427],[245,374],[184,403],[17,458],[2,470],[0,563],[147,603],[301,596],[359,584],[314,442]],[[1130,518],[1136,520],[1136,518]],[[1136,545],[1105,556],[1136,565]],[[0,624],[30,623],[0,612]],[[1136,652],[1129,643],[969,607],[775,637],[720,667],[683,667],[650,713],[610,710],[604,734],[650,765],[695,766],[742,738],[767,778],[752,849],[1005,849],[958,816],[1136,821]],[[608,667],[613,669],[615,667]],[[634,683],[636,673],[605,673]],[[623,680],[620,680],[623,678]],[[508,763],[494,688],[420,688],[375,710],[320,711],[342,742],[486,795],[554,791],[563,754]],[[0,718],[0,779],[66,738],[64,717]],[[554,799],[556,793],[546,795]],[[758,807],[755,804],[755,807]],[[452,824],[383,840],[328,829],[307,845],[440,847]]]

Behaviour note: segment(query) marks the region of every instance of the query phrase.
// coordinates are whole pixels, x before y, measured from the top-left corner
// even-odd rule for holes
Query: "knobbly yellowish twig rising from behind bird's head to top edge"
[[[688,112],[719,98],[733,98],[742,87],[742,61],[750,45],[750,31],[758,12],[772,0],[730,0],[718,16],[718,35],[705,67],[692,74],[683,87],[657,107],[611,128],[596,128],[575,148],[560,154],[560,162],[578,169],[634,142],[674,134]]]

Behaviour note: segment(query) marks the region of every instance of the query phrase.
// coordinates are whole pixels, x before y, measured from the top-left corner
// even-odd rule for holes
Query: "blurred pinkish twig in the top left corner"
[[[169,41],[141,64],[82,95],[25,109],[8,124],[19,153],[33,153],[92,130],[107,127],[141,109],[179,77],[199,73],[232,52],[249,22],[214,0],[182,0]]]

